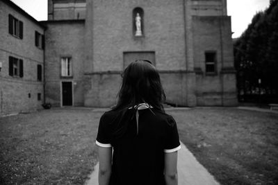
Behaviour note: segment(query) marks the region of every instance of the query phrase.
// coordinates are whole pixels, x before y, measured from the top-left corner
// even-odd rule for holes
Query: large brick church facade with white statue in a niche
[[[76,8],[81,10],[84,3],[82,22],[77,20]],[[142,37],[134,35],[133,11],[138,9],[143,19]],[[59,105],[61,100],[59,85],[54,82],[63,80],[58,76],[58,55],[75,56],[82,66],[74,72],[79,74],[74,82],[81,80],[74,87],[79,91],[74,92],[76,105],[110,107],[116,103],[120,73],[126,62],[131,62],[126,60],[150,53],[153,56],[147,57],[153,58],[161,73],[167,103],[237,105],[226,0],[49,0],[49,21],[44,24],[48,27],[46,96],[51,103]],[[213,74],[206,73],[206,51],[215,53]]]

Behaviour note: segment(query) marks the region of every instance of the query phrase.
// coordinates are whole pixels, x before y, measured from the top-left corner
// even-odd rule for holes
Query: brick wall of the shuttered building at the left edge
[[[9,15],[22,21],[22,38],[9,33]],[[44,51],[35,46],[35,31],[43,35],[44,26],[11,1],[0,1],[0,23],[0,116],[41,109]],[[23,76],[10,76],[10,57],[22,60]]]

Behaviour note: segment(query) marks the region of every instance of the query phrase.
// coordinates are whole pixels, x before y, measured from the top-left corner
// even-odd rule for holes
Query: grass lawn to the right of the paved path
[[[181,141],[220,184],[278,184],[278,114],[235,108],[170,114]]]

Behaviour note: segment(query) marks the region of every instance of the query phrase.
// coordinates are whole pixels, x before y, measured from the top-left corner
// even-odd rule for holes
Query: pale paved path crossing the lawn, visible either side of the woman
[[[86,185],[98,185],[99,164],[90,175]],[[206,168],[199,164],[193,154],[181,143],[181,149],[178,152],[178,174],[179,185],[219,185],[214,177],[208,173]]]

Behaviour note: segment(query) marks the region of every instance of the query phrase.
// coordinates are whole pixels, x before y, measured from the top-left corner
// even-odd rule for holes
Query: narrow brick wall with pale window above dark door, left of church
[[[84,20],[44,21],[46,102],[61,106],[61,82],[74,85],[74,106],[84,105]],[[72,77],[61,77],[61,58],[72,58]]]

